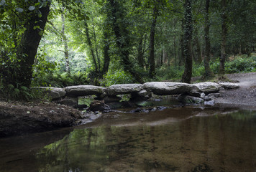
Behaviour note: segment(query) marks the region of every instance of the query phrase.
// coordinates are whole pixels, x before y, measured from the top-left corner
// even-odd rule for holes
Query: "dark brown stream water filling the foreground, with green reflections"
[[[79,128],[0,139],[0,171],[256,171],[256,111],[109,113]]]

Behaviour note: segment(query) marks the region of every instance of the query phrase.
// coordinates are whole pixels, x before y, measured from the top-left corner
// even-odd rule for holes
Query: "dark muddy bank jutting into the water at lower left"
[[[76,125],[81,112],[55,103],[0,101],[0,138]]]

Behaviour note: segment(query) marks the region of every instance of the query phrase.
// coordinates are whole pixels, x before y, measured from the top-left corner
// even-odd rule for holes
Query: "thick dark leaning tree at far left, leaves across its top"
[[[12,79],[7,81],[12,85],[18,85],[18,87],[29,87],[31,84],[32,65],[50,11],[50,1],[45,1],[42,4],[37,1],[29,1],[29,3],[22,4],[25,7],[22,12],[27,13],[28,19],[24,22],[24,32],[17,45],[17,67],[19,69],[16,73],[12,73],[13,76],[10,76]]]

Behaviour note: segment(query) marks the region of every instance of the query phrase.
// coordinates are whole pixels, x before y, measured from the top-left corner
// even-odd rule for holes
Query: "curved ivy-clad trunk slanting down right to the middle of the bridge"
[[[135,80],[137,80],[140,83],[143,83],[142,78],[140,75],[134,70],[134,67],[132,63],[129,61],[129,39],[128,39],[128,31],[126,27],[121,26],[119,27],[119,24],[117,23],[117,19],[120,16],[117,15],[117,7],[119,6],[118,1],[109,0],[110,8],[111,8],[111,16],[109,18],[112,19],[112,26],[114,29],[114,34],[116,35],[116,44],[119,47],[120,56],[122,59],[122,65],[124,66],[124,70],[129,72]]]

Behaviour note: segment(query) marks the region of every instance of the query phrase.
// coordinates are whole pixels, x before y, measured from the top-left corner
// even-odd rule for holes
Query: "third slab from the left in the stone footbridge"
[[[132,92],[140,92],[143,89],[141,84],[120,84],[120,85],[111,85],[106,89],[107,95],[125,95]]]

